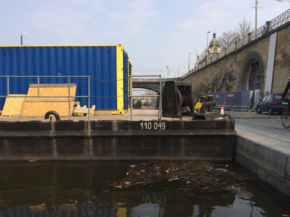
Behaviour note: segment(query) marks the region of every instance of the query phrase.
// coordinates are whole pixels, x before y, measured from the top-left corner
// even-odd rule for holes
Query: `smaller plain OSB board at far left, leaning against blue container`
[[[26,96],[24,94],[9,94],[10,96]],[[1,116],[15,116],[21,114],[25,97],[7,97]]]

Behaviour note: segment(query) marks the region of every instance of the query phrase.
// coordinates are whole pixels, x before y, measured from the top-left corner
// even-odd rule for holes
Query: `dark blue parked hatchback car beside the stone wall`
[[[261,114],[262,112],[268,112],[269,115],[273,115],[275,112],[281,113],[283,108],[288,106],[288,102],[281,101],[282,93],[271,93],[265,95],[262,100],[260,100],[256,107],[256,112]],[[285,99],[290,96],[287,94]]]

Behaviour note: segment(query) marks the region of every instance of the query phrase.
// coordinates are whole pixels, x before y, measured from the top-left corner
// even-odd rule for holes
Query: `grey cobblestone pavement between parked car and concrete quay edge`
[[[235,125],[238,127],[248,127],[249,131],[260,130],[263,133],[274,134],[277,137],[290,137],[290,129],[283,127],[281,123],[281,115],[275,113],[269,115],[267,113],[257,114],[256,112],[247,111],[225,111],[233,119],[235,119]]]

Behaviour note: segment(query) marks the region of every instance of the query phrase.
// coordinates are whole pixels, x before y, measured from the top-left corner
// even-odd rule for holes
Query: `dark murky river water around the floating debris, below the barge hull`
[[[123,179],[133,163],[2,162],[0,217],[290,216],[289,197],[258,180],[245,182],[251,196],[185,192],[173,182],[138,190],[104,188]]]

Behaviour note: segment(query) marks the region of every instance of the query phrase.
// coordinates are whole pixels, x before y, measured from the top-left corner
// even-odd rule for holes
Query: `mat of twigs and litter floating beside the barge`
[[[241,180],[256,179],[253,174],[241,172],[235,165],[221,168],[218,163],[200,161],[150,161],[131,167],[125,178],[105,188],[134,188],[163,185],[175,180],[182,191],[222,192],[251,196]],[[141,173],[140,173],[141,171]]]

